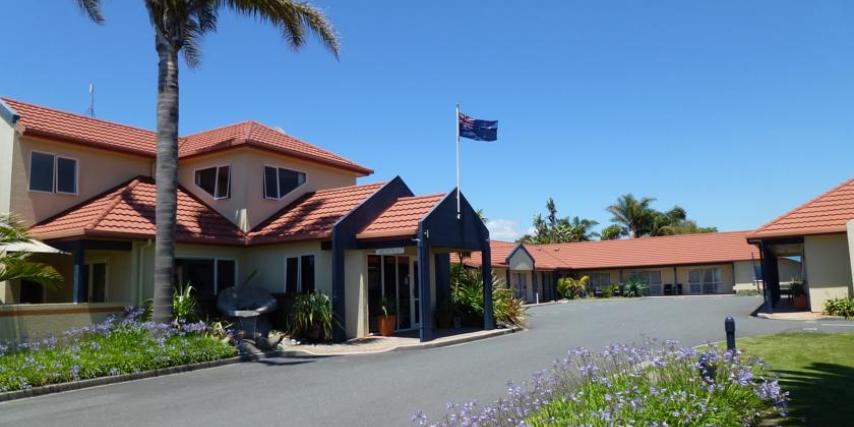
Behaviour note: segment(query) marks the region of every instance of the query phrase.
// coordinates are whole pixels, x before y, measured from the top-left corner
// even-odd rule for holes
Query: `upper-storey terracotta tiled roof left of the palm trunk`
[[[153,157],[155,133],[149,130],[66,113],[2,98],[20,116],[25,135],[56,139],[114,151]]]

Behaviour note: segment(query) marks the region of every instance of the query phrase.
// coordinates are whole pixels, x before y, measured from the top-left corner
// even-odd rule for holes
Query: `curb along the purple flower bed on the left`
[[[150,371],[134,372],[132,374],[116,375],[112,377],[90,378],[81,381],[73,381],[60,384],[48,384],[39,387],[33,387],[27,390],[7,391],[0,393],[0,402],[10,400],[24,399],[27,397],[43,396],[45,394],[60,393],[63,391],[80,390],[84,388],[98,387],[108,384],[116,384],[122,382],[136,381],[145,378],[154,378],[162,375],[178,374],[181,372],[197,371],[206,368],[215,368],[217,366],[231,365],[251,360],[247,356],[235,356],[227,359],[211,360],[208,362],[193,363],[190,365],[171,366],[162,369],[153,369]]]

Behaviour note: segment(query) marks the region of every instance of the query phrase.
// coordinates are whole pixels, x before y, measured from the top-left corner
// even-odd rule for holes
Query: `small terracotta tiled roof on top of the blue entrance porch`
[[[365,227],[358,239],[382,239],[390,237],[408,237],[418,232],[418,223],[434,206],[444,199],[446,194],[429,196],[401,197],[385,210],[377,219]]]

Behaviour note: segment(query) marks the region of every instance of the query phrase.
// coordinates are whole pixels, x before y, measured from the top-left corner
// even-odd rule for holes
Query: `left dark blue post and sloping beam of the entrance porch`
[[[341,342],[347,339],[345,251],[358,248],[356,234],[393,205],[398,198],[405,196],[412,196],[412,190],[399,176],[395,177],[344,215],[332,227],[332,313],[336,320],[333,324],[332,338],[335,341]]]

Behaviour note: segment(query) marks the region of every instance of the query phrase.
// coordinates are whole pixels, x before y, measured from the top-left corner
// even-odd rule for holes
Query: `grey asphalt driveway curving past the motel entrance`
[[[0,404],[0,425],[213,426],[409,425],[419,409],[441,414],[448,401],[491,401],[508,380],[548,367],[567,349],[598,349],[643,336],[686,345],[850,322],[749,317],[755,297],[692,296],[574,301],[533,307],[530,329],[428,350],[325,359],[278,359],[78,390]]]

